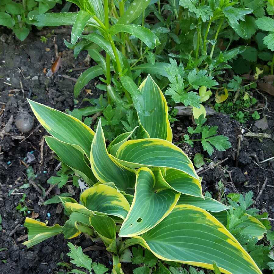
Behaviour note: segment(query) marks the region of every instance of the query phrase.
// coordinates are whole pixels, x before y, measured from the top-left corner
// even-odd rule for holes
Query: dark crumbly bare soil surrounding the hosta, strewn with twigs
[[[43,31],[51,33],[49,29]],[[16,118],[22,114],[26,116],[28,113],[32,117],[29,120],[32,127],[34,115],[27,104],[27,97],[61,111],[72,110],[81,105],[73,96],[74,82],[63,78],[62,75],[66,74],[77,79],[82,71],[69,73],[67,70],[92,66],[93,63],[85,64],[86,52],[82,52],[77,59],[73,57],[73,51],[69,50],[63,42],[64,39],[69,41],[69,31],[69,29],[60,28],[59,34],[50,35],[46,42],[42,42],[40,36],[32,33],[25,41],[20,42],[7,30],[0,28],[0,36],[4,33],[6,35],[0,41],[0,135],[2,134],[0,137],[0,214],[2,216],[0,248],[8,248],[0,251],[0,274],[66,273],[68,270],[64,265],[57,265],[58,262],[69,262],[66,255],[69,252],[67,240],[62,235],[50,238],[30,249],[22,244],[27,240],[27,231],[23,226],[25,216],[16,209],[16,206],[23,194],[26,194],[25,205],[29,209],[27,216],[35,217],[42,222],[47,220],[50,226],[56,223],[62,225],[64,216],[59,205],[41,205],[59,191],[53,188],[46,197],[43,197],[39,187],[41,185],[45,191],[50,188],[47,180],[50,176],[56,175],[56,167],[59,163],[43,142],[43,136],[48,133],[36,119],[34,119],[33,128],[22,133],[16,126]],[[59,52],[62,54],[59,71],[52,78],[46,77],[45,69],[48,71],[51,68]],[[95,81],[87,84],[77,100],[81,102],[84,97],[98,98],[100,91],[95,85]],[[203,176],[204,191],[218,194],[219,190],[216,186],[220,180],[225,185],[226,194],[235,191],[246,193],[252,190],[255,206],[262,212],[267,211],[269,217],[273,219],[274,161],[272,159],[260,162],[274,155],[274,98],[267,94],[257,95],[262,104],[264,104],[264,96],[268,101],[268,109],[264,109],[268,121],[266,130],[260,130],[254,126],[252,119],[246,125],[240,126],[228,115],[216,114],[210,117],[207,123],[210,126],[219,126],[218,133],[230,138],[232,147],[229,150],[215,151],[212,156],[209,156],[202,150],[199,143],[193,148],[187,144],[180,144],[180,147],[191,158],[195,153],[203,153],[209,162],[217,163],[211,169],[208,168],[212,167],[212,164],[206,163],[203,169],[199,170],[198,174]],[[9,123],[10,127],[5,127]],[[187,133],[187,126],[191,125],[191,120],[181,117],[180,121],[173,126],[174,141],[180,141],[180,136]],[[4,129],[5,131],[2,131]],[[260,139],[242,137],[237,158],[238,140],[247,132],[272,135],[271,138],[261,137]],[[225,161],[221,162],[222,160]],[[28,180],[27,168],[30,166],[37,177]],[[268,180],[262,194],[256,199],[266,178]],[[20,188],[26,183],[30,184],[28,188]],[[76,188],[73,190],[75,191],[73,197],[77,199],[79,190]],[[66,187],[61,189],[61,192],[69,191],[71,190]],[[88,248],[89,251],[85,251],[85,254],[94,262],[102,263],[112,269],[111,255],[103,249],[102,243],[93,243],[84,235],[70,241],[81,245],[83,250]],[[1,260],[6,260],[6,264]],[[132,273],[132,270],[125,269],[125,273]]]

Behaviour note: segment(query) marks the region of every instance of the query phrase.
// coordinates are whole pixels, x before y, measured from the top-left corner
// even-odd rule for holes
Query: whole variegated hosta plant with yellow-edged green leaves
[[[90,188],[79,203],[60,197],[69,216],[64,226],[27,218],[27,247],[60,233],[67,239],[86,233],[100,237],[113,253],[113,273],[123,273],[120,262],[130,262],[128,247],[136,244],[164,261],[208,269],[217,265],[223,273],[262,273],[222,224],[228,207],[203,196],[192,162],[171,143],[162,91],[150,76],[132,89],[139,109],[139,127],[133,130],[137,138],[131,139],[133,131],[126,132],[108,147],[100,121],[94,133],[76,118],[29,100],[52,135],[45,136],[49,147]],[[243,234],[253,237],[262,238],[266,232],[249,215],[243,226]]]

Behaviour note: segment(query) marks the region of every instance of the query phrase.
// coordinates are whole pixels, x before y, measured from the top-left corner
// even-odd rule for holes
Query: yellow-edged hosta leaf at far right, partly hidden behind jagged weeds
[[[227,225],[227,211],[212,213],[212,215],[224,226]],[[245,215],[248,216],[247,220],[239,224],[241,227],[245,226],[245,228],[241,230],[241,234],[251,236],[253,238],[257,237],[259,240],[262,239],[262,237],[264,237],[264,233],[267,232],[265,226],[253,216],[248,214]]]

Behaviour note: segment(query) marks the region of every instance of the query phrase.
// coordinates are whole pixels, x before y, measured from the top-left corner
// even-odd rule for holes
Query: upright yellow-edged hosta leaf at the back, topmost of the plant
[[[144,110],[155,109],[150,116],[138,113],[141,125],[151,138],[160,138],[172,141],[172,130],[168,119],[168,107],[160,88],[148,74],[148,77],[140,85],[139,90],[144,98]]]

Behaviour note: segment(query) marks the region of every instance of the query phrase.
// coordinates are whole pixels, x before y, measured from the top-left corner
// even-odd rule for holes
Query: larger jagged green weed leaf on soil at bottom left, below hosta
[[[91,273],[92,260],[82,251],[82,247],[76,248],[72,243],[68,242],[70,252],[67,255],[72,258],[70,262],[76,266],[84,267]]]

